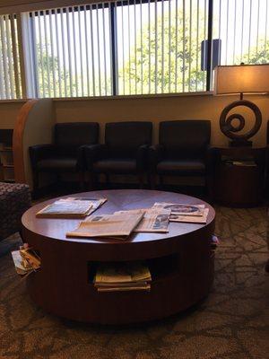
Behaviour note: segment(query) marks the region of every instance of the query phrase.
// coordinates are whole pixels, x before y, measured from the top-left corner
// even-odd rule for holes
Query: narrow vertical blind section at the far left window
[[[17,21],[13,14],[0,15],[0,99],[21,97]]]

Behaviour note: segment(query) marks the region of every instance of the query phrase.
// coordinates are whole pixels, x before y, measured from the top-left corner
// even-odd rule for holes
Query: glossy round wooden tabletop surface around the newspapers
[[[124,242],[145,242],[145,241],[160,241],[170,239],[182,235],[195,232],[208,226],[213,222],[215,212],[213,207],[206,202],[185,195],[173,192],[163,192],[155,190],[142,190],[142,189],[116,189],[116,190],[102,190],[76,193],[65,197],[91,197],[100,198],[106,197],[108,201],[101,206],[94,215],[112,214],[120,210],[128,210],[135,208],[148,208],[155,202],[168,202],[168,203],[183,203],[183,204],[204,204],[209,208],[209,215],[206,224],[197,223],[169,223],[168,233],[133,233]],[[58,197],[63,198],[63,197]],[[78,242],[78,243],[118,243],[123,242],[120,240],[111,239],[83,239],[83,238],[66,238],[65,233],[74,231],[81,219],[56,219],[56,218],[37,218],[36,214],[45,206],[53,203],[58,198],[49,199],[46,202],[39,203],[38,205],[30,207],[24,215],[22,215],[22,227],[27,231],[38,234],[39,236],[46,237],[52,240]]]

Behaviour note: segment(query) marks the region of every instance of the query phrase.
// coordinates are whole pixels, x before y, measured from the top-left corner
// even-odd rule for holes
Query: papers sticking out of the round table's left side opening
[[[16,272],[20,276],[28,276],[40,267],[39,255],[27,244],[24,244],[20,250],[13,250],[12,256]]]

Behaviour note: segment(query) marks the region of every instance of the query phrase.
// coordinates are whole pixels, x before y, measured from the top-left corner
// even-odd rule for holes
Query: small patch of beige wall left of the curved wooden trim
[[[25,101],[0,101],[0,129],[14,128],[19,110]]]

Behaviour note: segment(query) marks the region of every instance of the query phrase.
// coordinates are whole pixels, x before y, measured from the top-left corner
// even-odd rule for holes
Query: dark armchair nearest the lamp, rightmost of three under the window
[[[149,153],[151,186],[155,188],[156,176],[198,176],[208,185],[210,168],[208,149],[211,121],[186,119],[163,121],[159,127],[159,144]]]

